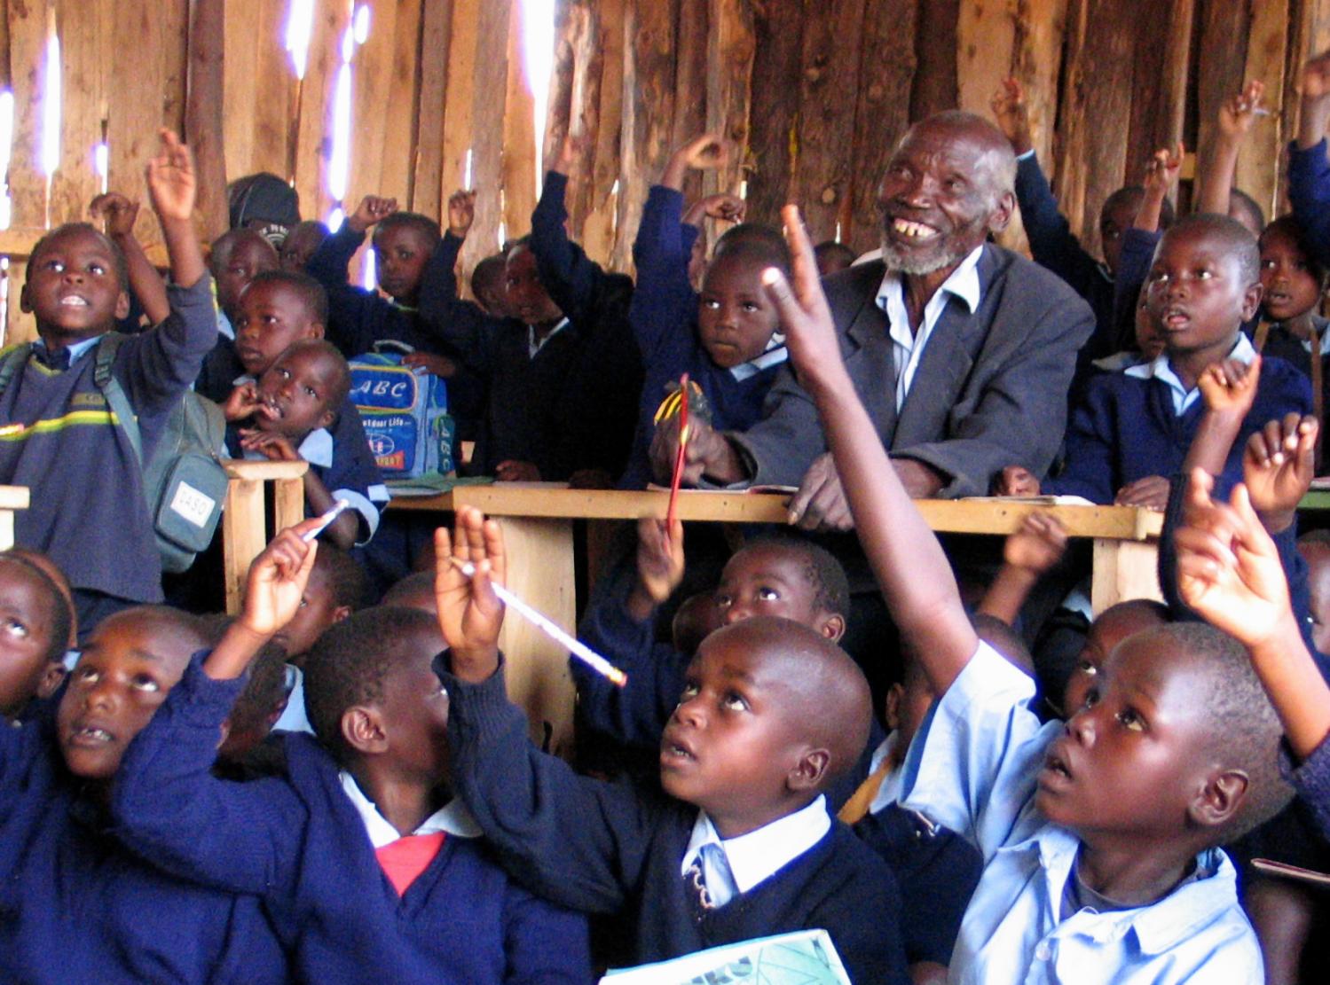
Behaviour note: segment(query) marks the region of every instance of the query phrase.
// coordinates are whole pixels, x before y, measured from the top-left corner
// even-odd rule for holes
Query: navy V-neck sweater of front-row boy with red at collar
[[[283,736],[286,776],[213,778],[243,683],[209,679],[202,654],[190,663],[121,768],[126,844],[181,879],[261,896],[305,981],[588,981],[583,917],[515,887],[473,839],[446,836],[399,896],[313,736]]]

